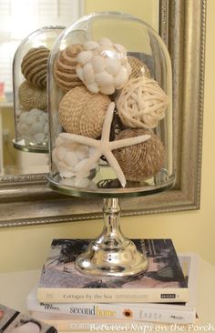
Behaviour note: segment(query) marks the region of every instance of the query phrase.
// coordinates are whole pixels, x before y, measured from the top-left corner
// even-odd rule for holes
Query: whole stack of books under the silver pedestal
[[[158,330],[163,324],[195,323],[198,257],[178,257],[170,239],[133,239],[148,256],[147,272],[129,278],[91,277],[75,267],[89,241],[53,240],[38,285],[27,297],[32,317],[67,332]]]

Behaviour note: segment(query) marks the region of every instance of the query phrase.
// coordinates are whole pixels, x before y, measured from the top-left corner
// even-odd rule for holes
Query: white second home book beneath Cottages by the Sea
[[[196,320],[198,257],[193,254],[179,255],[179,263],[188,280],[189,301],[178,304],[129,304],[129,303],[43,303],[36,297],[37,287],[26,298],[26,307],[36,318],[44,314],[45,319],[64,319],[69,322],[75,318],[82,319],[128,319],[146,320],[162,323],[189,324]],[[39,317],[40,318],[40,317]]]

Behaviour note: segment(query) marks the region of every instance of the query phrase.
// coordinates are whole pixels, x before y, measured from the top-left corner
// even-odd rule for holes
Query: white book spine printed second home
[[[164,305],[163,305],[164,306]],[[48,315],[69,315],[71,318],[113,318],[133,320],[153,320],[163,323],[193,323],[196,313],[194,309],[181,309],[158,304],[66,304],[39,303],[34,298],[27,299],[27,309],[29,311],[38,311]]]

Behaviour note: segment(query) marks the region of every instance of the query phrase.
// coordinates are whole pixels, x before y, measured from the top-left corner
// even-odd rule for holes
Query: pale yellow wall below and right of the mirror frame
[[[128,1],[123,0],[123,3]],[[141,1],[141,0],[140,0]],[[89,0],[90,3],[96,2]],[[97,0],[97,3],[99,1]],[[106,3],[111,3],[110,0]],[[134,6],[134,1],[129,3]],[[89,3],[88,3],[89,4]],[[202,160],[201,208],[145,217],[122,218],[128,237],[171,237],[178,251],[198,252],[215,265],[215,1],[208,0],[205,112]],[[135,7],[135,6],[134,6]],[[96,237],[102,223],[83,221],[37,227],[0,229],[0,271],[42,267],[53,237]]]

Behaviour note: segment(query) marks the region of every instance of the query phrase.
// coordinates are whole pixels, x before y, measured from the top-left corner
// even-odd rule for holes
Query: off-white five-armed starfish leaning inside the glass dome
[[[122,187],[126,186],[126,178],[123,174],[121,167],[118,164],[118,160],[113,155],[112,150],[126,146],[138,145],[144,141],[147,141],[150,138],[150,136],[149,135],[135,136],[116,141],[109,141],[110,127],[113,119],[114,109],[115,109],[115,103],[111,102],[107,107],[107,113],[104,118],[100,140],[96,140],[88,136],[78,136],[76,134],[71,134],[71,133],[60,134],[61,137],[67,140],[71,140],[72,142],[77,142],[79,144],[95,147],[95,152],[93,156],[89,157],[86,165],[83,166],[77,172],[77,179],[84,177],[86,175],[86,172],[91,170],[95,166],[100,156],[105,156],[107,158],[109,166],[112,166],[112,168],[116,172],[116,175]]]

